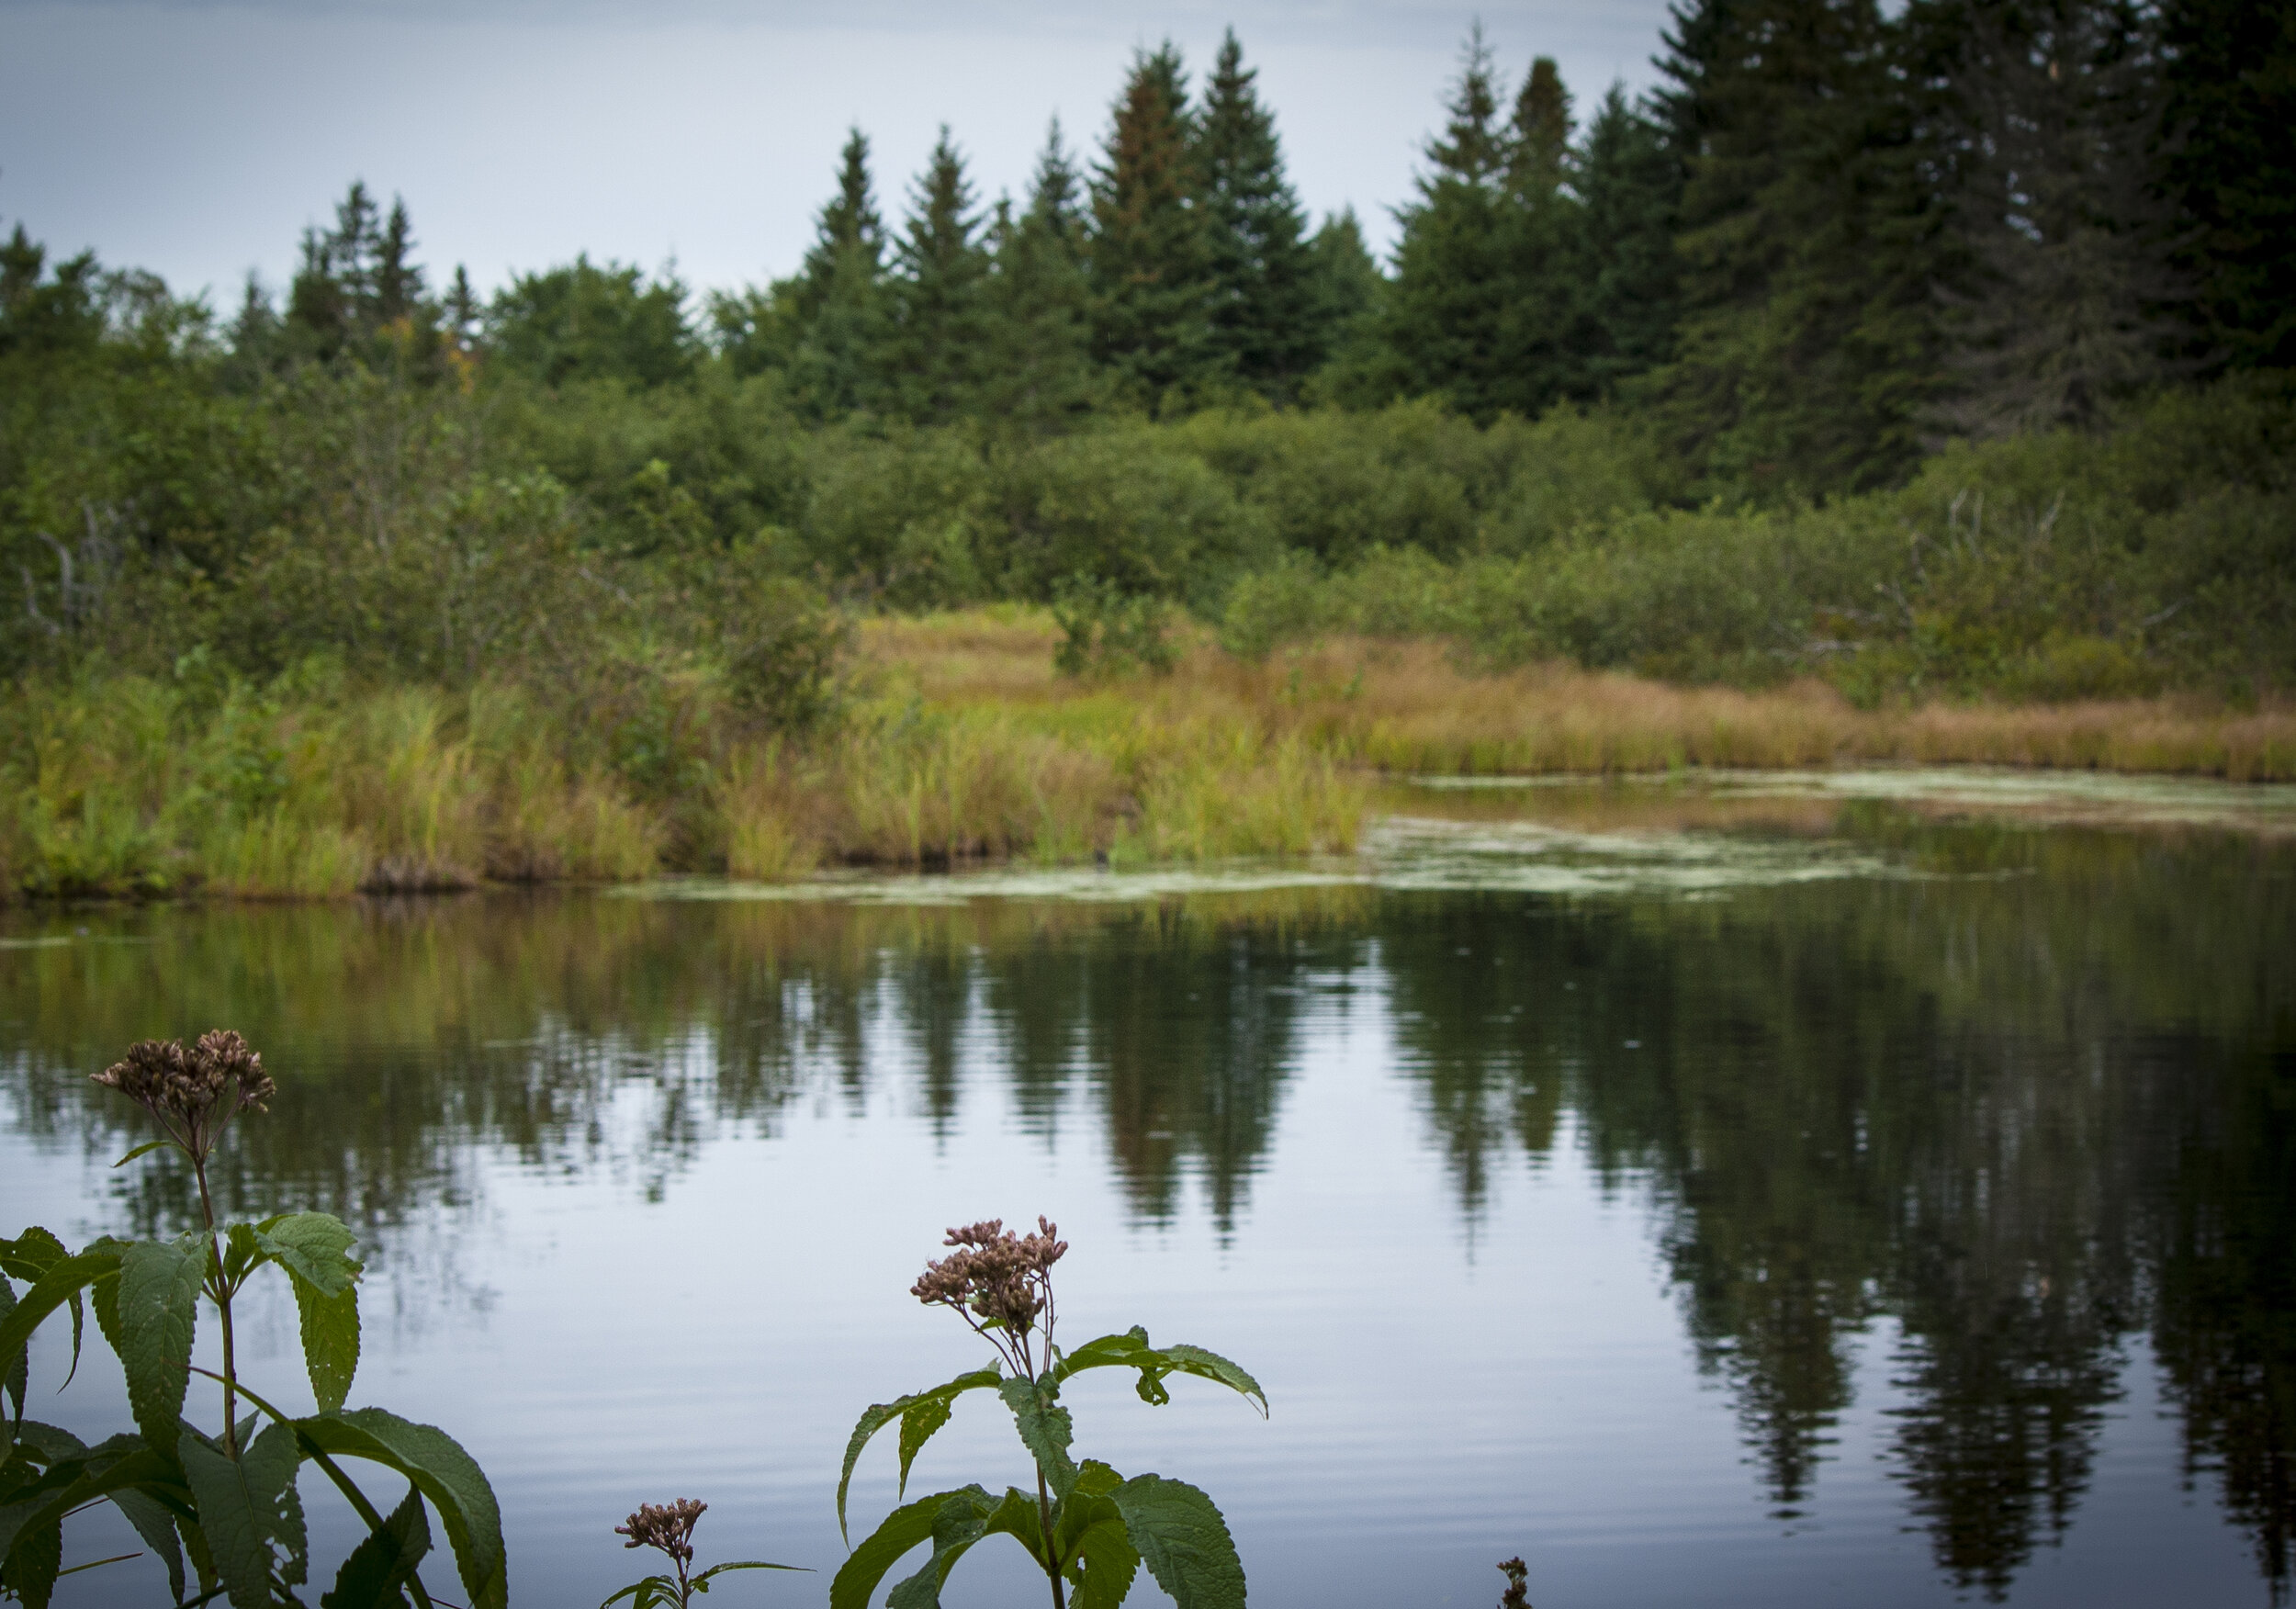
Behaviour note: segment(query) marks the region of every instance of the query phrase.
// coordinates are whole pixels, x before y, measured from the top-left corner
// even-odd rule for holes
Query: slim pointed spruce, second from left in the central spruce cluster
[[[987,280],[978,227],[964,158],[944,124],[893,252],[884,370],[895,406],[912,420],[946,422],[974,404]]]

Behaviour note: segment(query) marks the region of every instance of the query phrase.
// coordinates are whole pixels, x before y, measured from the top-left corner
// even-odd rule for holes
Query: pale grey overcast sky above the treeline
[[[1476,14],[1508,92],[1552,55],[1587,108],[1649,87],[1665,0],[0,0],[0,227],[227,310],[363,177],[434,282],[588,250],[730,287],[797,264],[847,124],[889,220],[941,122],[983,200],[1019,193],[1047,117],[1095,149],[1134,48],[1196,78],[1233,23],[1311,213],[1384,246]]]

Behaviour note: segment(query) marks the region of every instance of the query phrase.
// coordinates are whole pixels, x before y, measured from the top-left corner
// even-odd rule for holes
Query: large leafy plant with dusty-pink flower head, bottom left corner
[[[216,1219],[209,1157],[241,1111],[264,1111],[276,1093],[262,1058],[227,1031],[207,1033],[193,1047],[145,1040],[94,1081],[149,1111],[163,1134],[119,1166],[152,1150],[179,1150],[200,1187],[202,1226],[174,1239],[103,1237],[78,1253],[67,1253],[44,1228],[0,1239],[0,1386],[14,1405],[0,1418],[0,1598],[44,1609],[55,1581],[71,1575],[62,1568],[64,1519],[110,1501],[165,1563],[179,1604],[216,1598],[227,1598],[232,1609],[296,1604],[310,1568],[296,1476],[303,1464],[317,1464],[367,1524],[333,1591],[321,1595],[324,1609],[383,1609],[409,1600],[429,1609],[418,1568],[432,1549],[432,1513],[455,1549],[468,1609],[503,1609],[503,1526],[480,1467],[443,1430],[379,1407],[342,1407],[358,1370],[363,1265],[351,1258],[351,1230],[326,1212],[287,1212],[259,1223]],[[317,1414],[285,1414],[239,1375],[232,1304],[273,1265],[294,1285]],[[18,1297],[11,1281],[30,1288]],[[202,1297],[220,1327],[220,1373],[191,1361]],[[87,1306],[119,1354],[135,1418],[135,1432],[96,1446],[23,1414],[32,1334],[69,1308],[71,1366],[78,1368]],[[214,1432],[184,1416],[193,1375],[220,1386],[223,1414]],[[255,1412],[241,1416],[241,1400]],[[381,1464],[406,1480],[406,1497],[383,1515],[340,1460]],[[186,1598],[186,1559],[200,1588],[193,1598]],[[73,1565],[85,1568],[94,1565]]]

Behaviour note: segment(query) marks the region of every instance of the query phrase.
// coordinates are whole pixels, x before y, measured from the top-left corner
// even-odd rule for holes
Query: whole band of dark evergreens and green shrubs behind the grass
[[[1472,34],[1391,262],[1233,32],[785,280],[482,296],[354,184],[280,296],[0,248],[0,668],[833,702],[838,611],[1435,634],[1860,702],[2296,679],[2296,7],[1685,0],[1580,115]]]

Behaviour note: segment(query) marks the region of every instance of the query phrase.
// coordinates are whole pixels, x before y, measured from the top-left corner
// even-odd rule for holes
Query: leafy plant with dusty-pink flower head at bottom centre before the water
[[[902,1554],[930,1542],[925,1568],[893,1586],[886,1609],[934,1609],[955,1563],[976,1542],[1003,1533],[1035,1559],[1054,1609],[1070,1602],[1114,1609],[1132,1591],[1141,1563],[1180,1609],[1242,1609],[1244,1565],[1212,1499],[1185,1480],[1127,1480],[1097,1460],[1079,1464],[1068,1451],[1072,1425],[1061,1386],[1088,1368],[1132,1368],[1141,1400],[1162,1405],[1171,1400],[1169,1375],[1196,1375],[1242,1393],[1261,1414],[1267,1393],[1217,1352],[1153,1347],[1139,1327],[1063,1352],[1052,1338],[1058,1317],[1052,1265],[1068,1253],[1068,1242],[1045,1219],[1035,1226],[1035,1235],[1013,1235],[1003,1219],[953,1228],[946,1244],[955,1251],[925,1265],[912,1295],[962,1317],[996,1347],[996,1363],[861,1414],[838,1478],[838,1529],[845,1526],[845,1490],[870,1437],[900,1423],[900,1492],[907,1494],[918,1448],[948,1423],[951,1405],[967,1391],[994,1391],[1013,1409],[1035,1464],[1035,1494],[1006,1487],[1003,1497],[992,1497],[987,1487],[964,1485],[895,1508],[852,1549],[829,1586],[829,1607],[868,1609]]]

